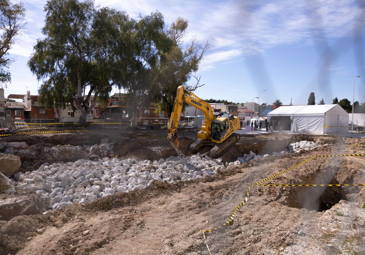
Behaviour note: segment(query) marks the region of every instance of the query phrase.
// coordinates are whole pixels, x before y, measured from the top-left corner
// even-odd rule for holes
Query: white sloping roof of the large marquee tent
[[[268,113],[268,116],[288,115],[324,115],[337,104],[292,105],[280,106]]]

